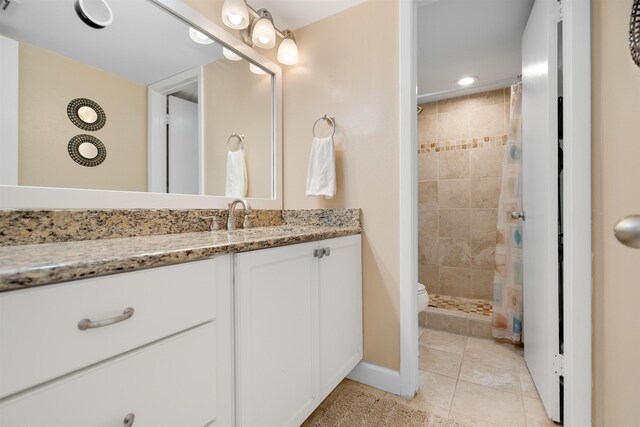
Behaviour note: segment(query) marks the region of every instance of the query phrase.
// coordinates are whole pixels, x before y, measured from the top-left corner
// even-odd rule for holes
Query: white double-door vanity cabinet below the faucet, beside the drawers
[[[360,236],[235,264],[237,425],[298,426],[362,358]]]

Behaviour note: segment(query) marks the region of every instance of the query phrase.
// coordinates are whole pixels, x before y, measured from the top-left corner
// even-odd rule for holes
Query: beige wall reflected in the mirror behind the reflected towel
[[[227,139],[243,134],[247,197],[272,197],[271,76],[249,71],[247,61],[220,59],[204,66],[205,194],[224,195]]]

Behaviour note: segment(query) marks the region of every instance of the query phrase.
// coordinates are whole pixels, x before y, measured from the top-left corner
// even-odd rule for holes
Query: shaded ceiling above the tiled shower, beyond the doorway
[[[463,76],[477,76],[474,86],[483,90],[507,86],[521,74],[522,33],[533,1],[419,0],[418,95],[459,89]]]

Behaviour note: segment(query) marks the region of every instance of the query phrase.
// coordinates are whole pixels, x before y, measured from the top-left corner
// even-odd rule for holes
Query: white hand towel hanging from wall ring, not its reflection
[[[325,196],[327,199],[336,195],[336,158],[333,137],[313,138],[305,194]]]

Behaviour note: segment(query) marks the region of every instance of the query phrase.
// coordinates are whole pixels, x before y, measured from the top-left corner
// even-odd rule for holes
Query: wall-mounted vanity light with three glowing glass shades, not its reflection
[[[238,18],[241,11],[247,11],[246,25]],[[293,32],[291,30],[280,31],[276,28],[273,24],[273,17],[267,9],[256,11],[246,3],[246,0],[224,0],[222,21],[227,27],[240,30],[242,40],[251,47],[271,49],[275,47],[277,37],[282,38],[278,48],[278,61],[285,65],[293,65],[298,62],[298,46]]]

